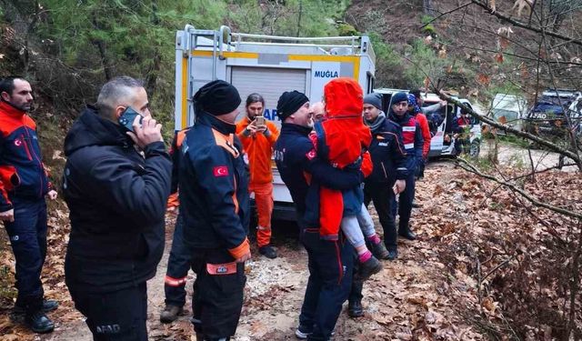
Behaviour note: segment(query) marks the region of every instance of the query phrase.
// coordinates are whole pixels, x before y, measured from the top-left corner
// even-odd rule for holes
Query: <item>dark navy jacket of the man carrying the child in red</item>
[[[364,180],[360,171],[343,171],[317,159],[314,145],[308,137],[310,132],[311,128],[284,123],[275,145],[276,167],[289,188],[298,216],[302,218],[306,213],[309,176],[319,185],[336,190],[354,189]],[[303,223],[316,224],[311,219]]]

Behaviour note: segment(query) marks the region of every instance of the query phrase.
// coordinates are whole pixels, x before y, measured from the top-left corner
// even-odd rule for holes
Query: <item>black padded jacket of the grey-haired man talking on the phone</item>
[[[172,164],[163,142],[147,145],[144,158],[122,129],[88,107],[65,137],[67,286],[105,292],[156,275]]]

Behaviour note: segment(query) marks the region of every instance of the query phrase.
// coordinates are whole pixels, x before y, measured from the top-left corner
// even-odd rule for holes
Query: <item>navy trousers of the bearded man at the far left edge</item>
[[[16,305],[31,310],[42,307],[43,285],[40,273],[46,256],[46,203],[45,199],[12,198],[15,221],[4,226],[16,261]]]

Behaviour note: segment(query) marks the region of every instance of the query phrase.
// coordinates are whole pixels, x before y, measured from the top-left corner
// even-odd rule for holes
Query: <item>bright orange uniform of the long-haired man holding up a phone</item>
[[[246,126],[250,124],[248,117],[236,124],[236,135],[243,144],[248,155],[250,173],[249,193],[255,193],[256,213],[256,242],[259,247],[267,246],[271,242],[271,214],[273,213],[273,170],[271,156],[273,146],[279,136],[279,131],[273,122],[265,121],[269,133],[245,135]]]

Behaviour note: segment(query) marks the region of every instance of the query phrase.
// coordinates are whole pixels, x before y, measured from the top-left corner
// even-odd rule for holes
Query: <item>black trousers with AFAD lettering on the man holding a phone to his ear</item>
[[[147,340],[146,282],[111,293],[88,293],[82,287],[69,287],[69,292],[95,341]]]

